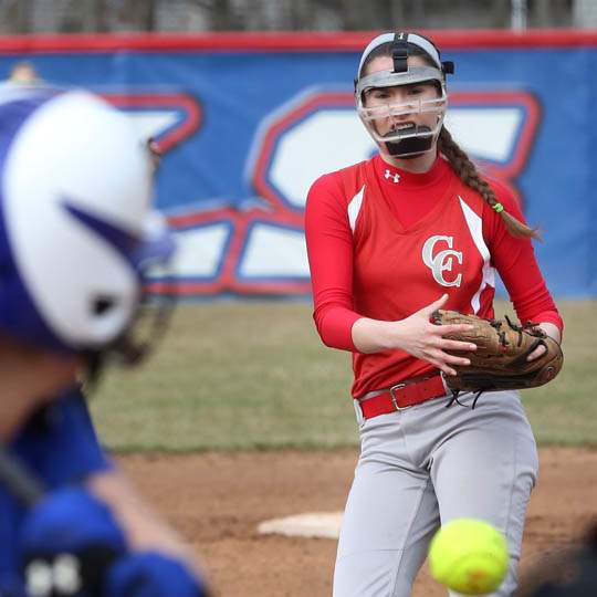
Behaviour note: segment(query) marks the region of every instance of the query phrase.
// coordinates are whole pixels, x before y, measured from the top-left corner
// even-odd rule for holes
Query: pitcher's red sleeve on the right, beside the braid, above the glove
[[[490,180],[495,197],[504,209],[524,222],[512,191],[502,182]],[[513,237],[502,217],[484,206],[483,235],[488,239],[492,261],[504,282],[521,322],[552,323],[562,332],[564,322],[557,311],[537,264],[531,239]]]

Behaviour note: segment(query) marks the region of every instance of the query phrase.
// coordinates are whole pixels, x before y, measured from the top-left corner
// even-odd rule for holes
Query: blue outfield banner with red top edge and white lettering
[[[100,93],[158,140],[185,295],[306,295],[307,189],[375,151],[353,101],[374,34],[0,38],[0,69]],[[597,295],[597,32],[427,34],[455,62],[447,126],[541,228],[549,289]]]

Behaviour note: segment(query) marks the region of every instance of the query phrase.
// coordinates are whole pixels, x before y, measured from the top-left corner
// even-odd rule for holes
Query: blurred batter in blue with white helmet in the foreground
[[[203,595],[100,448],[75,377],[133,339],[172,241],[147,148],[83,92],[0,87],[0,595]]]

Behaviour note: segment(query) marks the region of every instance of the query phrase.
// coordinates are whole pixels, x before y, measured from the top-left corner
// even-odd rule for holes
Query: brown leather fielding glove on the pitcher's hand
[[[453,367],[455,376],[446,376],[448,387],[457,395],[460,391],[535,388],[551,381],[562,368],[564,356],[559,345],[535,327],[536,324],[516,325],[507,315],[504,320],[484,320],[442,310],[436,311],[431,321],[437,325],[473,326],[469,332],[443,336],[476,345],[476,350],[446,350],[471,362],[464,367]],[[526,360],[540,345],[545,346],[546,352],[534,360]]]

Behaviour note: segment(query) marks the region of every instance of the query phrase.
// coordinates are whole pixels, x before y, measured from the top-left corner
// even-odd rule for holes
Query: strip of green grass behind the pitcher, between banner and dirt
[[[597,446],[597,302],[559,307],[565,367],[524,404],[543,444]],[[350,380],[349,354],[322,345],[307,303],[187,304],[146,365],[108,371],[92,411],[116,451],[355,446]]]

